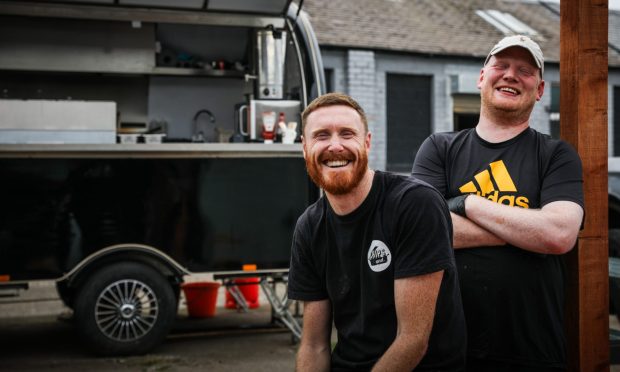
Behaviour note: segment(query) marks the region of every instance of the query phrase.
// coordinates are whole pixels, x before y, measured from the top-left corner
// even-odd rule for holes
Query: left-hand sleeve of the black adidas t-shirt
[[[441,141],[438,139],[436,135],[432,135],[422,143],[413,162],[411,175],[431,184],[442,195],[446,195],[445,163],[443,154],[438,147]]]

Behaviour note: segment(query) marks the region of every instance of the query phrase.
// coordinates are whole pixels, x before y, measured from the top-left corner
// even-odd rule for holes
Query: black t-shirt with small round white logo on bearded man
[[[452,221],[434,188],[376,171],[364,202],[338,216],[326,198],[297,221],[288,297],[329,299],[338,344],[332,370],[370,370],[394,341],[394,280],[444,270],[429,347],[416,370],[462,370],[465,323]]]

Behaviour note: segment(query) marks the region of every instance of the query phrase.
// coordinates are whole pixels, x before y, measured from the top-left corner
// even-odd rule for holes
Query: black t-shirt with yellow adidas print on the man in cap
[[[446,199],[477,193],[497,203],[541,208],[567,200],[583,208],[581,161],[567,143],[528,128],[502,143],[475,129],[431,135],[413,175]],[[458,249],[468,354],[529,366],[566,366],[562,258],[513,246]]]

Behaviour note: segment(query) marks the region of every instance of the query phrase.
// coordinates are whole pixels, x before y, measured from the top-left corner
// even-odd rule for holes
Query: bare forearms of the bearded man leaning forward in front
[[[396,338],[373,371],[411,371],[428,347],[443,270],[394,281]],[[304,330],[297,371],[329,371],[331,306],[328,300],[304,303]]]

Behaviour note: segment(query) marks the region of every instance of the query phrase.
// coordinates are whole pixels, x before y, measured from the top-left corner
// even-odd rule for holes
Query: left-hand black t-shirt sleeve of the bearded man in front
[[[288,275],[288,298],[300,301],[318,301],[327,298],[324,280],[319,275],[313,259],[311,232],[307,216],[297,220],[291,247],[291,265]]]

